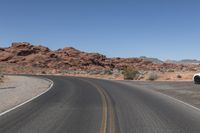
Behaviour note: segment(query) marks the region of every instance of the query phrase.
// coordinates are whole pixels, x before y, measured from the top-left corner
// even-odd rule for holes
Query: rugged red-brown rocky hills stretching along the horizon
[[[138,70],[168,71],[188,70],[193,66],[173,63],[163,63],[154,58],[107,58],[99,53],[87,53],[72,47],[50,50],[41,45],[27,42],[12,43],[10,47],[0,48],[0,67],[62,71],[62,70],[122,70],[131,66]],[[20,67],[20,68],[19,68]],[[23,68],[26,67],[26,68]],[[9,71],[4,68],[1,71]],[[15,70],[14,70],[15,71]],[[33,71],[33,70],[31,70]]]

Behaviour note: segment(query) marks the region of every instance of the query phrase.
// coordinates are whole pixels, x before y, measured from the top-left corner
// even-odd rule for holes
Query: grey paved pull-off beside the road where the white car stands
[[[137,88],[146,88],[169,95],[200,108],[200,85],[192,81],[119,81]]]

